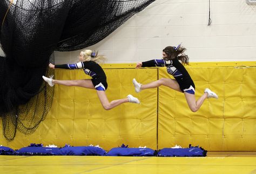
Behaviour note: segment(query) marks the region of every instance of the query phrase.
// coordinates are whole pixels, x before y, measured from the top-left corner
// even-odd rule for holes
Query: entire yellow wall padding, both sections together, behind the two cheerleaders
[[[244,63],[241,63],[244,65]],[[254,65],[248,67],[250,65]],[[234,66],[233,66],[234,65]],[[171,78],[166,68],[134,69],[134,64],[104,65],[109,101],[136,96],[140,105],[124,103],[104,110],[96,91],[82,87],[56,85],[52,108],[35,133],[17,131],[8,142],[0,126],[0,145],[19,149],[30,143],[65,143],[73,146],[100,145],[105,150],[128,144],[163,149],[178,144],[199,145],[208,151],[256,151],[256,67],[224,64],[186,66],[196,85],[196,99],[205,88],[219,95],[206,99],[198,112],[188,108],[183,93],[168,87],[134,92],[132,79],[148,83]],[[55,79],[90,78],[82,70],[56,69]]]

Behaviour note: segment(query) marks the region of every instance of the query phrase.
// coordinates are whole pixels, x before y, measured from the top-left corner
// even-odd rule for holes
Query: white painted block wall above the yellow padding
[[[212,0],[210,11],[208,26],[209,1],[157,0],[89,48],[111,64],[160,58],[165,46],[179,43],[191,62],[255,61],[256,5]],[[78,53],[56,52],[56,64],[77,61]]]

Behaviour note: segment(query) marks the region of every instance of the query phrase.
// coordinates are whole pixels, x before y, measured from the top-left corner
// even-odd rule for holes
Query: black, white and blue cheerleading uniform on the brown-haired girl
[[[194,82],[191,79],[190,74],[188,74],[185,67],[179,62],[177,58],[173,60],[153,59],[153,60],[142,62],[142,67],[154,67],[154,66],[158,66],[158,67],[166,66],[167,72],[171,74],[179,83],[181,91],[194,94],[194,90],[196,88],[194,86]]]

